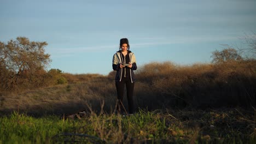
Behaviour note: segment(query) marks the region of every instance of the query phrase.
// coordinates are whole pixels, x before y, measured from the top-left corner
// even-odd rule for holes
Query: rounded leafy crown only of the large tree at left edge
[[[26,37],[18,37],[7,44],[1,42],[0,56],[6,68],[16,74],[38,68],[45,68],[50,62],[50,55],[45,53],[46,42],[30,41]]]

